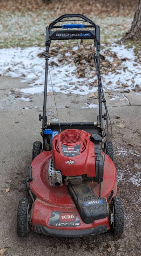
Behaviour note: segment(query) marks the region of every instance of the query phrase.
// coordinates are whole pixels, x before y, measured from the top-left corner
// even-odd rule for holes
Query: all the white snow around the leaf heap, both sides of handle
[[[107,75],[102,75],[102,84],[106,89],[125,90],[121,88],[124,83],[128,84],[126,89],[132,90],[136,84],[141,84],[141,66],[135,61],[133,49],[126,49],[124,45],[112,44],[111,52],[115,52],[119,59],[127,58],[121,64],[121,70],[117,73],[109,72]],[[44,52],[41,47],[28,47],[0,49],[0,75],[22,78],[21,82],[27,82],[29,88],[20,89],[23,93],[40,94],[44,92],[44,78],[45,78],[45,59],[38,57],[38,54]],[[73,47],[73,51],[77,51],[78,46]],[[112,61],[107,56],[109,61]],[[88,86],[89,82],[93,82],[96,78],[87,77],[79,78],[75,66],[71,64],[60,65],[56,57],[51,57],[49,63],[53,61],[56,65],[50,66],[50,72],[53,82],[54,92],[74,93],[79,95],[86,95],[97,91],[97,87]],[[133,84],[134,80],[134,84]],[[112,82],[111,85],[107,83]],[[119,85],[116,82],[120,83]],[[52,91],[50,78],[48,76],[48,92]],[[115,98],[111,99],[115,100]],[[91,107],[91,106],[89,106]],[[93,106],[92,106],[93,107]]]

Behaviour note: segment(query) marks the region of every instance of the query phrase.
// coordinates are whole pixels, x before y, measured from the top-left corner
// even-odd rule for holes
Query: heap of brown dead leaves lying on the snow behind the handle
[[[94,62],[94,44],[92,45],[92,43],[79,41],[78,44],[76,44],[75,46],[72,46],[72,44],[63,47],[62,45],[58,45],[57,48],[51,48],[50,56],[56,56],[61,65],[71,64],[71,66],[76,66],[77,74],[75,75],[80,78],[94,77],[96,75]],[[105,56],[108,56],[110,58],[110,61]],[[118,59],[116,53],[106,50],[102,54],[100,54],[100,60],[101,75],[107,75],[109,72],[119,74],[119,70],[121,69],[121,64],[123,63],[123,60]],[[57,66],[57,63],[51,61],[50,65]],[[112,82],[109,82],[109,85],[111,83]],[[94,84],[95,86],[97,86],[97,80],[94,81]],[[120,83],[119,86],[121,86]]]

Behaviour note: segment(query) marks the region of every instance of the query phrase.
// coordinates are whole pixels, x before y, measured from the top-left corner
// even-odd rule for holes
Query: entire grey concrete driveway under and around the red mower
[[[56,238],[40,236],[31,231],[28,237],[21,238],[16,231],[17,207],[19,199],[26,197],[25,171],[32,159],[33,142],[41,140],[38,115],[42,113],[43,95],[35,95],[29,102],[16,99],[12,92],[9,93],[20,85],[18,78],[0,77],[0,247],[7,249],[4,255],[140,255],[140,95],[125,93],[126,104],[108,101],[113,124],[118,195],[122,196],[125,207],[124,234],[117,237],[107,232],[83,238]],[[87,96],[56,96],[59,97],[57,103],[61,121],[97,120],[98,108],[80,108]],[[56,118],[56,111],[51,105],[53,96],[49,97],[48,121]],[[120,119],[116,119],[116,115]],[[12,181],[6,183],[7,180]],[[7,193],[6,188],[10,188]]]

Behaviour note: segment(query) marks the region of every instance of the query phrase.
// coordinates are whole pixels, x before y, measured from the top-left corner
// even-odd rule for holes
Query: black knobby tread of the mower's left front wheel
[[[18,205],[18,214],[17,214],[17,233],[18,236],[27,236],[28,230],[26,227],[26,218],[27,218],[27,207],[30,203],[28,198],[20,199]]]

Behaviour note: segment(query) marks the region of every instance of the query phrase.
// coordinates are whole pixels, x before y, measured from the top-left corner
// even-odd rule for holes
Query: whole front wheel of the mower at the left
[[[31,229],[31,203],[28,198],[20,199],[17,214],[18,236],[27,236]]]

